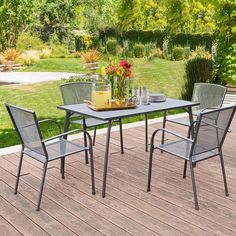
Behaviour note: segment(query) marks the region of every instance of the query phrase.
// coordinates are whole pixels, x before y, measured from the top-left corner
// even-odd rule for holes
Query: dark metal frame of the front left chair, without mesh
[[[45,182],[45,177],[46,177],[48,163],[51,162],[51,161],[57,160],[57,159],[61,159],[61,170],[60,171],[61,171],[61,177],[62,177],[62,179],[64,179],[65,178],[65,157],[68,156],[68,155],[71,155],[71,154],[75,154],[75,153],[78,153],[78,152],[82,152],[82,151],[87,151],[88,150],[89,153],[90,153],[92,194],[94,195],[95,194],[95,179],[94,179],[94,163],[93,163],[93,148],[92,148],[93,145],[92,145],[92,139],[91,139],[91,136],[89,135],[89,133],[87,131],[80,130],[80,129],[75,129],[75,130],[72,130],[72,131],[69,131],[69,132],[66,132],[66,133],[61,133],[60,132],[61,131],[60,126],[59,126],[59,124],[55,120],[53,120],[53,119],[45,119],[45,120],[38,121],[34,111],[27,110],[27,109],[24,109],[24,108],[21,108],[21,107],[13,106],[13,105],[9,105],[9,104],[5,104],[5,105],[6,105],[7,111],[9,113],[9,115],[10,115],[10,118],[12,120],[12,123],[13,123],[14,128],[15,128],[15,130],[16,130],[19,138],[20,138],[21,145],[22,145],[14,194],[17,194],[17,191],[18,191],[18,185],[19,185],[19,180],[20,180],[20,173],[21,173],[21,167],[22,167],[22,162],[23,162],[24,154],[32,157],[33,159],[35,159],[35,160],[37,160],[37,161],[39,161],[39,162],[41,162],[43,164],[43,175],[42,175],[42,180],[41,180],[41,184],[40,184],[39,197],[38,197],[38,202],[37,202],[37,207],[36,207],[36,210],[39,211],[40,210],[40,205],[41,205],[41,199],[42,199],[42,194],[43,194],[43,189],[44,189],[44,182]],[[27,144],[25,144],[24,138],[22,137],[22,135],[21,135],[21,133],[19,131],[19,127],[16,124],[16,120],[15,120],[16,118],[14,117],[14,115],[11,112],[11,108],[14,108],[14,109],[17,109],[19,111],[26,112],[26,113],[32,115],[32,118],[33,118],[32,124],[30,124],[28,126],[31,126],[31,125],[32,126],[33,125],[36,126],[38,135],[40,137],[41,148],[43,150],[43,154],[44,155],[42,153],[39,153],[36,150],[32,149]],[[60,134],[57,135],[57,136],[48,138],[48,139],[43,139],[42,133],[41,133],[41,130],[40,130],[40,126],[39,126],[39,124],[43,123],[43,122],[52,122],[52,123],[54,123],[57,126]],[[25,128],[25,127],[26,126],[20,127],[20,128]],[[57,156],[55,158],[51,158],[50,159],[50,156],[49,156],[48,150],[47,150],[48,149],[47,148],[48,144],[51,145],[53,143],[53,141],[55,142],[56,139],[59,139],[59,142],[63,141],[63,143],[65,143],[65,144],[72,143],[70,141],[67,141],[64,138],[68,134],[79,132],[79,131],[82,131],[82,132],[84,132],[85,135],[87,135],[87,138],[89,140],[89,147],[86,147],[86,146],[82,147],[82,146],[79,146],[79,145],[73,143],[75,146],[78,146],[78,150],[77,151],[72,151],[72,152],[64,153],[63,155],[59,155],[59,156]],[[37,155],[43,156],[44,158],[37,158]]]

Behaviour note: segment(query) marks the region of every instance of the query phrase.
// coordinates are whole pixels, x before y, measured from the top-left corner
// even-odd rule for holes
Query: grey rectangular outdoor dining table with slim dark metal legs
[[[112,121],[115,119],[122,119],[130,116],[137,116],[144,114],[145,116],[145,148],[148,151],[148,114],[153,112],[163,112],[178,108],[184,108],[189,114],[190,122],[193,121],[192,107],[197,106],[199,103],[189,102],[179,99],[167,98],[164,102],[150,103],[148,105],[138,105],[135,109],[124,109],[124,110],[112,110],[112,111],[94,111],[90,109],[86,103],[72,104],[72,105],[62,105],[58,106],[59,109],[66,111],[66,119],[64,125],[64,132],[69,129],[69,120],[73,114],[80,114],[83,116],[89,116],[96,119],[101,119],[108,121],[108,129],[106,136],[106,147],[105,147],[105,158],[104,158],[104,171],[103,171],[103,187],[102,187],[102,197],[106,195],[106,181],[107,181],[107,168],[108,168],[108,158],[109,158],[109,144],[110,144],[110,134]],[[85,122],[85,118],[83,117]],[[121,123],[120,123],[121,125]],[[121,138],[121,153],[123,153],[123,139]]]

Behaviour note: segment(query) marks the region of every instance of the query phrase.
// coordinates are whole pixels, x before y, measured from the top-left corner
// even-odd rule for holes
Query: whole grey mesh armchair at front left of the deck
[[[83,145],[65,139],[69,133],[80,131],[78,129],[63,134],[60,133],[57,136],[43,140],[39,127],[40,123],[52,122],[57,126],[58,130],[60,131],[60,126],[54,120],[46,119],[41,122],[38,122],[36,114],[33,111],[12,106],[9,104],[6,104],[6,108],[8,110],[8,113],[11,117],[13,125],[19,135],[22,144],[20,162],[15,185],[15,194],[17,194],[24,154],[32,157],[33,159],[43,164],[43,176],[36,208],[37,211],[39,211],[48,162],[61,159],[61,175],[62,178],[64,178],[65,157],[82,151],[89,151],[90,153],[92,194],[95,194],[92,139],[86,131],[83,132],[87,135],[87,138],[89,140],[89,147],[84,147]]]

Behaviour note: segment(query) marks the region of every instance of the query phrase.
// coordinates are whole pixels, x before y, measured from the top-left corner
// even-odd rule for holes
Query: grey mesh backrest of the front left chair
[[[46,150],[35,112],[9,104],[6,104],[6,108],[22,145],[45,156]]]

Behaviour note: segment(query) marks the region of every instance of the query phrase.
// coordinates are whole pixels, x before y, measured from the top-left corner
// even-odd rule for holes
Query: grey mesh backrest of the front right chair
[[[210,150],[221,150],[236,106],[212,109],[198,116],[192,155]]]

